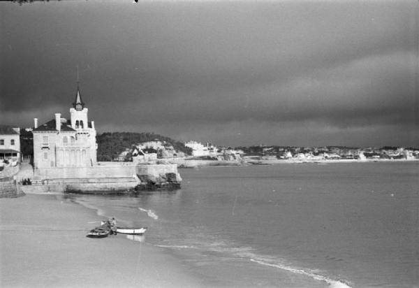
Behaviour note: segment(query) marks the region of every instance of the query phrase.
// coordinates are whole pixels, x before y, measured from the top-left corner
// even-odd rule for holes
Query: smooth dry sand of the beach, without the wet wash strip
[[[1,287],[200,287],[159,247],[119,234],[85,237],[100,220],[61,195],[0,199]]]

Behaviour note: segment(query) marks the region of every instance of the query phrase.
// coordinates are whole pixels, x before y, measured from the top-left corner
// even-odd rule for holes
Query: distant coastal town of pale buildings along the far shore
[[[155,134],[154,134],[155,135]],[[159,135],[156,135],[159,136]],[[157,160],[193,160],[193,161],[241,161],[242,163],[260,164],[263,161],[374,161],[374,160],[415,160],[419,159],[419,148],[414,147],[295,147],[277,145],[253,146],[216,146],[211,143],[188,141],[146,141],[126,147],[112,161],[157,161]],[[176,145],[173,145],[176,143]],[[184,145],[184,149],[182,146]],[[177,147],[174,147],[177,146]],[[101,150],[99,147],[98,150]],[[140,159],[140,160],[139,160]],[[271,164],[274,164],[272,162]]]

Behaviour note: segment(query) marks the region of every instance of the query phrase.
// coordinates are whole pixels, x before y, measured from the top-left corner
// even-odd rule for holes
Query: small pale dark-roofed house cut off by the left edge
[[[20,155],[20,129],[0,125],[0,160],[20,162]]]

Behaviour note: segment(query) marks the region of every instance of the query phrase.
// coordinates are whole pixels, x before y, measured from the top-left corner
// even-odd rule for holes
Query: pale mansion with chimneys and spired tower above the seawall
[[[96,165],[96,130],[87,112],[78,87],[70,120],[55,113],[54,119],[38,126],[38,119],[34,119],[35,168]]]

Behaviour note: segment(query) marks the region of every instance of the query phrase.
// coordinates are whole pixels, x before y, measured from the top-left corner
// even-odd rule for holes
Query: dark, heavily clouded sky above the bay
[[[419,1],[0,3],[0,124],[419,147]],[[79,71],[79,73],[77,73]]]

